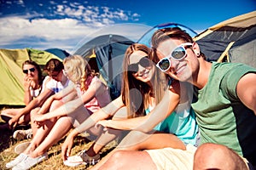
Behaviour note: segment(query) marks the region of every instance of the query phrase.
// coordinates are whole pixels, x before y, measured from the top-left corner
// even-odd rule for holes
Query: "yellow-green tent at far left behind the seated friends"
[[[24,105],[22,63],[32,59],[43,67],[51,58],[60,59],[32,48],[0,49],[0,105]]]

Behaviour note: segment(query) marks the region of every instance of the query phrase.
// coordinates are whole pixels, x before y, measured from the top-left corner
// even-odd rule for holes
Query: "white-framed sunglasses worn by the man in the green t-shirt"
[[[160,59],[160,61],[156,64],[156,66],[160,69],[160,71],[168,71],[171,67],[171,58],[174,60],[184,59],[187,55],[186,46],[192,46],[191,42],[184,42],[177,46],[171,54],[167,57]]]

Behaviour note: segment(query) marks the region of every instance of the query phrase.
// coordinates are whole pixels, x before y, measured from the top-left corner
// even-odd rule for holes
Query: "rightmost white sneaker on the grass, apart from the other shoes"
[[[86,150],[82,150],[76,156],[69,156],[67,161],[64,161],[64,165],[68,167],[77,167],[79,165],[95,165],[98,161],[100,161],[101,156],[97,154],[96,156],[88,156],[86,154]]]

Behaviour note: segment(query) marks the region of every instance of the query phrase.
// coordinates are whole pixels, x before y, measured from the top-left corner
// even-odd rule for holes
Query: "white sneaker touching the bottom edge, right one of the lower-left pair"
[[[35,158],[27,156],[26,159],[24,159],[23,161],[20,161],[20,163],[15,165],[15,167],[13,167],[12,170],[26,170],[26,169],[30,169],[31,167],[34,167],[39,162],[44,161],[46,159],[48,159],[47,152],[45,152],[43,156],[38,156],[38,157],[35,157]]]

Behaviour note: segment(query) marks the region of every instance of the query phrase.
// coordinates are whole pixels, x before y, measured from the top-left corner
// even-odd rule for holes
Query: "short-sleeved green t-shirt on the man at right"
[[[256,73],[256,69],[213,62],[207,85],[198,91],[192,107],[200,127],[201,144],[224,144],[255,165],[256,116],[236,94],[237,82],[249,72]]]

